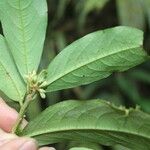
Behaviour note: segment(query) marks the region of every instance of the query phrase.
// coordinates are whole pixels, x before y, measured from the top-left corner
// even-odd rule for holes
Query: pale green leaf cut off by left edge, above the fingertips
[[[25,85],[8,51],[6,41],[0,35],[0,90],[14,101],[21,102],[25,95]]]

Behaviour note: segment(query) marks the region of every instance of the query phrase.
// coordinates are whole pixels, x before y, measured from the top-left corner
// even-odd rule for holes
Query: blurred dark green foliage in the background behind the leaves
[[[47,0],[48,28],[40,68],[46,68],[65,46],[96,30],[118,25],[144,31],[144,48],[150,53],[150,0]],[[108,39],[109,41],[109,39]],[[62,62],[63,63],[63,62]],[[136,107],[150,113],[150,62],[90,85],[48,93],[45,100],[34,101],[28,109],[33,119],[46,107],[67,99],[100,98],[116,105]],[[91,143],[66,142],[57,150],[87,147],[93,150],[129,150],[122,146],[103,147]],[[76,148],[75,148],[76,149]]]

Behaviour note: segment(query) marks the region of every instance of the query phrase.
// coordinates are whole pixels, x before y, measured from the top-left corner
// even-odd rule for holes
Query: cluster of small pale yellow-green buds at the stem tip
[[[46,82],[47,72],[46,70],[41,71],[39,74],[36,71],[30,72],[25,76],[27,81],[27,92],[28,93],[39,93],[42,98],[46,97],[46,91],[44,88],[47,86]]]

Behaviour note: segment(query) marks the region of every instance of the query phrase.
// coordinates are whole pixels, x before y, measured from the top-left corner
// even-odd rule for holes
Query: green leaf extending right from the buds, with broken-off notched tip
[[[142,42],[142,31],[121,26],[75,41],[50,63],[47,91],[88,84],[144,62]]]

